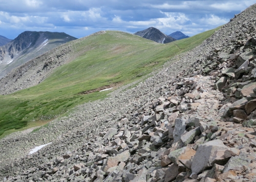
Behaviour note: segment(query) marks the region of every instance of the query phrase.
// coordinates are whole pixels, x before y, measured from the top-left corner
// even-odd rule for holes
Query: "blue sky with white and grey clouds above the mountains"
[[[229,22],[256,0],[0,0],[0,35],[65,32],[76,38],[101,30],[135,33],[155,27],[193,36]]]

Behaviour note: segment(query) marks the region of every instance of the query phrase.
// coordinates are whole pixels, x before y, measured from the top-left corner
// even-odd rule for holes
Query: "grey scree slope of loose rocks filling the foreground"
[[[2,139],[3,181],[255,181],[255,10],[137,86]]]

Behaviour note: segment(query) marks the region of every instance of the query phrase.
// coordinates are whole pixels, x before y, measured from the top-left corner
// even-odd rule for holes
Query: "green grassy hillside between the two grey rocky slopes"
[[[217,29],[216,29],[217,30]],[[81,103],[102,99],[110,91],[79,94],[136,81],[167,60],[202,43],[216,30],[159,44],[132,34],[105,34],[69,42],[75,59],[55,69],[44,82],[10,95],[0,95],[0,137],[46,124]]]

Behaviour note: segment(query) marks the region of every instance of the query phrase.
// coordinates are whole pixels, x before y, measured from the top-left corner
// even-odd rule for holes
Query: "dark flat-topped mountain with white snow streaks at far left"
[[[13,68],[75,39],[77,38],[58,32],[26,31],[19,34],[14,40],[0,46],[0,78]]]

